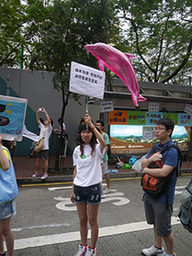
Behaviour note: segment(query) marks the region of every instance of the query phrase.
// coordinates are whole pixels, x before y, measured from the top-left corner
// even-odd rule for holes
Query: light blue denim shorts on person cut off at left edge
[[[0,219],[9,218],[16,214],[15,200],[0,204]]]

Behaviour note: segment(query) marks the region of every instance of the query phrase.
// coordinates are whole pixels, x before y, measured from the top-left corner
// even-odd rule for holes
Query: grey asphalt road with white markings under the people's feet
[[[191,234],[177,216],[179,197],[189,183],[186,173],[177,179],[172,231],[177,256],[191,255]],[[141,177],[119,177],[111,181],[112,192],[99,209],[98,255],[142,255],[143,247],[154,244],[153,227],[146,224]],[[73,256],[78,250],[79,218],[70,200],[72,183],[20,184],[17,214],[11,227],[15,235],[15,256]],[[89,241],[90,243],[90,238]],[[164,244],[165,246],[165,244]]]

